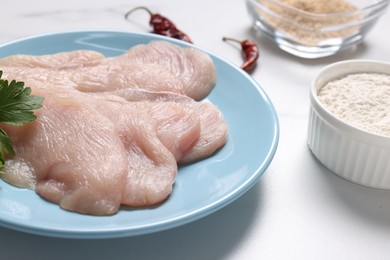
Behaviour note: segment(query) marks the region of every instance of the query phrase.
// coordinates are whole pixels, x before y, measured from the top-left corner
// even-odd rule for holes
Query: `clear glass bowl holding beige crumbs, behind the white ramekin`
[[[321,2],[246,0],[254,28],[282,50],[302,58],[330,56],[358,44],[389,0]]]

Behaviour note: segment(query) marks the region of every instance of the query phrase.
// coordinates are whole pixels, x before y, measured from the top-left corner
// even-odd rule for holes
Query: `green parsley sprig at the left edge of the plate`
[[[32,110],[42,107],[43,97],[31,96],[31,88],[24,82],[2,79],[0,70],[0,123],[21,126],[37,117]],[[15,150],[7,133],[0,128],[0,173],[5,164],[5,155],[14,156]]]

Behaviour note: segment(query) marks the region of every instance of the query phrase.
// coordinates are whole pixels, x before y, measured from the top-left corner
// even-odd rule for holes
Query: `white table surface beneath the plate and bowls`
[[[222,36],[251,38],[243,0],[2,0],[0,42],[81,29],[150,30],[139,5],[171,18],[202,48],[239,65]],[[184,226],[121,239],[72,240],[0,227],[0,259],[390,259],[390,191],[362,187],[321,166],[306,144],[309,85],[325,65],[346,59],[390,61],[390,13],[357,48],[318,60],[296,58],[264,37],[252,76],[280,120],[277,153],[242,197]]]

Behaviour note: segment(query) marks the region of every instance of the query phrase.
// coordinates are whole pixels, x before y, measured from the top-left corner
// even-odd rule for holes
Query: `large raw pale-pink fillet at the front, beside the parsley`
[[[3,179],[35,188],[64,209],[93,215],[114,214],[120,204],[147,206],[165,200],[177,174],[174,154],[198,139],[199,123],[190,115],[180,117],[186,111],[176,103],[164,106],[172,117],[151,119],[150,102],[132,106],[118,97],[72,94],[41,94],[45,106],[37,111],[37,121],[5,126],[17,155],[7,160]],[[157,129],[157,123],[170,127]],[[167,139],[175,133],[181,136]]]

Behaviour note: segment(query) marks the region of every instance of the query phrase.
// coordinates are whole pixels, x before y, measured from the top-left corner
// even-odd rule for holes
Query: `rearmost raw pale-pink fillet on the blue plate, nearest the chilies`
[[[88,79],[90,84],[78,85],[81,91],[87,92],[113,91],[124,88],[123,83],[126,83],[126,88],[173,90],[176,93],[185,93],[195,100],[201,100],[210,93],[216,82],[216,69],[209,55],[193,47],[183,48],[165,41],[136,45],[126,53],[112,58],[105,58],[100,53],[87,50],[43,56],[13,55],[0,59],[0,66],[5,67],[4,70],[15,70],[6,67],[17,67],[16,70],[25,69],[26,72],[19,72],[24,74],[31,73],[26,68],[55,69],[66,73],[73,69],[76,70],[73,72],[73,81],[80,80],[82,77],[84,82]],[[83,68],[88,69],[88,75],[81,76],[81,73],[84,73]],[[123,70],[118,74],[120,68]],[[38,72],[42,78],[53,76],[53,71]],[[11,71],[9,73],[15,75]],[[118,78],[113,82],[111,77],[115,75]],[[96,84],[92,76],[109,77],[115,84],[111,84],[109,86],[111,89],[108,89],[106,85],[103,87],[101,84]],[[165,84],[161,86],[161,82]]]

